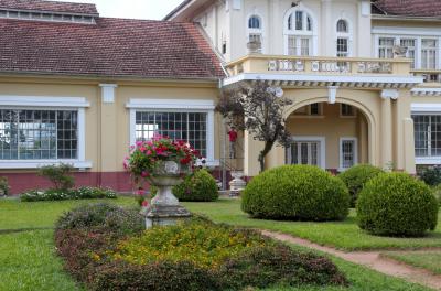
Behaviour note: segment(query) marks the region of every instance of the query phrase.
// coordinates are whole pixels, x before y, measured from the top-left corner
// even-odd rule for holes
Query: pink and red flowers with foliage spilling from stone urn
[[[125,169],[136,181],[161,173],[164,162],[174,161],[181,169],[190,169],[198,158],[198,152],[189,143],[155,136],[151,141],[138,141],[125,160]]]

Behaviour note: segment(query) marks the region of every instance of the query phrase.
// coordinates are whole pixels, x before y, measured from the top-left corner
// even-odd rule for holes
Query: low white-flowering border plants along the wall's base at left
[[[22,193],[20,196],[22,202],[36,201],[64,201],[64,200],[100,200],[117,198],[117,193],[111,188],[100,187],[79,187],[71,190],[31,190]]]

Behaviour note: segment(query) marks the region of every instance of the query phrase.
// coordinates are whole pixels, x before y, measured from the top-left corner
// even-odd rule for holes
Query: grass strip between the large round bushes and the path
[[[334,246],[344,250],[367,249],[418,249],[441,247],[441,215],[438,228],[423,238],[390,238],[370,236],[361,230],[355,222],[355,211],[344,222],[305,223],[251,219],[240,211],[239,200],[220,200],[214,203],[185,203],[196,213],[207,215],[217,223],[282,231],[312,240],[320,245]]]

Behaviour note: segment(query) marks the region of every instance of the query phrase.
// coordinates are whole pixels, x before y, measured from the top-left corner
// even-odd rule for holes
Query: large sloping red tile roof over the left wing
[[[193,23],[97,18],[97,24],[0,20],[0,73],[218,78]]]

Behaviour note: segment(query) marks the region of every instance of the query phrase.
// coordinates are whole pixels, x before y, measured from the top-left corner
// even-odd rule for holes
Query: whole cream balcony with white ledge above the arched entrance
[[[224,86],[265,80],[294,87],[411,88],[423,82],[407,58],[359,58],[250,54],[226,65]]]

